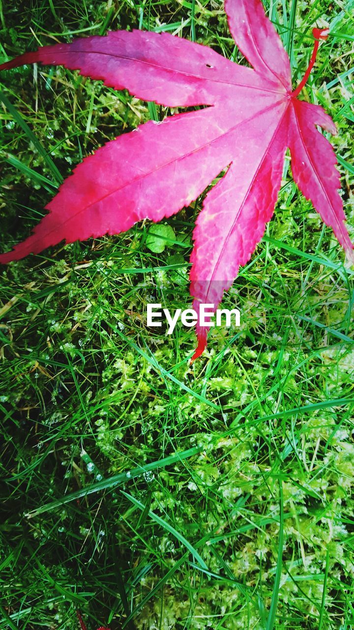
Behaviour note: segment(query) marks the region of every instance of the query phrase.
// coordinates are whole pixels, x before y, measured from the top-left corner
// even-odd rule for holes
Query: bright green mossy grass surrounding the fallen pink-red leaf
[[[302,98],[326,106],[354,235],[354,3],[265,2]],[[167,30],[237,62],[219,2],[0,0],[0,60],[117,28]],[[3,250],[106,140],[170,110],[62,68],[2,73]],[[176,110],[173,110],[173,113]],[[287,159],[287,167],[289,161]],[[225,307],[240,329],[146,328],[186,307],[202,198],[1,268],[1,628],[350,630],[354,625],[353,269],[289,168]]]

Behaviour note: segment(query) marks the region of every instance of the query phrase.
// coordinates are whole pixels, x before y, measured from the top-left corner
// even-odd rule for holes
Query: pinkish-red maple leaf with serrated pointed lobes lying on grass
[[[63,65],[84,76],[127,88],[142,100],[166,106],[208,108],[147,122],[76,166],[47,205],[33,234],[0,262],[38,253],[64,239],[118,234],[137,221],[154,222],[188,206],[227,169],[208,192],[193,231],[193,307],[213,304],[231,287],[270,221],[287,147],[294,180],[353,260],[331,144],[316,125],[336,134],[323,108],[298,100],[312,66],[293,91],[288,55],[260,0],[226,0],[229,28],[253,69],[214,50],[167,33],[116,31],[69,44],[42,47],[0,66]],[[197,323],[198,357],[207,328]]]

